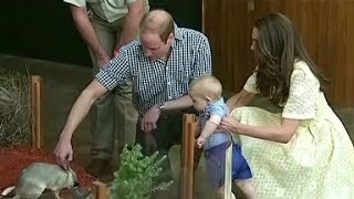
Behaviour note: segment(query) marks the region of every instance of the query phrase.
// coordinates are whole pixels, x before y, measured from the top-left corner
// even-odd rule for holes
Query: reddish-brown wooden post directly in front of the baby
[[[180,169],[180,199],[192,199],[194,192],[194,149],[196,116],[194,114],[184,114],[183,121],[183,157]]]

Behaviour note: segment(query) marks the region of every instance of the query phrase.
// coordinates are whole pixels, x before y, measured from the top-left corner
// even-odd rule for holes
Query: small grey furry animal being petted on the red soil
[[[6,197],[14,190],[12,199],[38,199],[45,189],[49,189],[54,192],[56,199],[60,199],[59,192],[62,189],[72,189],[77,186],[74,170],[65,170],[54,164],[33,163],[22,169],[17,185],[7,188],[2,196]]]

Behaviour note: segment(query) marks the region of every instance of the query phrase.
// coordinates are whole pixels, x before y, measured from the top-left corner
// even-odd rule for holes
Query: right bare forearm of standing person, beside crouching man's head
[[[115,51],[125,44],[131,43],[138,34],[139,23],[144,17],[144,1],[136,0],[127,4],[128,13],[125,17],[123,31],[117,41]]]

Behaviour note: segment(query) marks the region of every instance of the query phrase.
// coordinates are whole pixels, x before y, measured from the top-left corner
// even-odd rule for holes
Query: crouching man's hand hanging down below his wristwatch
[[[159,118],[160,109],[157,105],[150,107],[142,118],[140,128],[145,133],[150,133],[157,128],[157,121]]]

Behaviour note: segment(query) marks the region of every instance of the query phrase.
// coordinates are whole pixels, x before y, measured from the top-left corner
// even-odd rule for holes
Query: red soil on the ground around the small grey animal
[[[0,147],[0,190],[14,186],[20,171],[35,161],[55,164],[55,157],[51,153],[28,146]],[[94,177],[75,163],[72,163],[71,167],[75,170],[81,186],[91,186]]]

